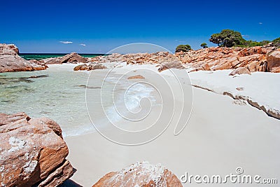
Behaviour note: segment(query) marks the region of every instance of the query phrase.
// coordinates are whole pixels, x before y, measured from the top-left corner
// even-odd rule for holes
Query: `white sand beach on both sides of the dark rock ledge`
[[[155,70],[151,65],[140,67]],[[117,68],[114,71],[116,74],[123,74],[127,69],[132,69],[132,66]],[[167,71],[160,74],[169,79],[171,75]],[[228,70],[198,71],[190,73],[190,78],[194,85],[218,93],[241,92],[242,95],[279,110],[277,97],[280,87],[276,85],[279,84],[278,74],[257,72],[251,76],[242,75],[232,78],[228,76],[229,73]],[[145,77],[145,81],[155,78],[155,74],[145,74],[140,70],[132,71],[132,74],[141,74]],[[190,88],[188,85],[186,87]],[[244,90],[238,91],[236,88],[244,88]],[[269,92],[265,92],[268,88]],[[172,104],[173,98],[172,95],[169,97],[170,101],[165,103],[165,107],[171,107],[169,104]],[[176,97],[176,103],[183,104],[183,99],[185,99],[184,104],[192,103],[190,98],[183,97]],[[225,176],[235,173],[237,167],[242,167],[244,174],[276,178],[280,174],[280,121],[249,104],[239,105],[233,101],[234,99],[226,95],[193,87],[193,111],[181,134],[174,136],[176,120],[172,120],[160,137],[140,146],[115,144],[98,132],[65,137],[69,147],[68,160],[77,169],[71,180],[82,186],[92,186],[104,174],[118,171],[142,160],[153,164],[161,163],[179,177],[186,172],[202,176],[204,174]],[[179,113],[175,113],[174,118],[177,117]],[[216,186],[215,183],[207,185]],[[238,184],[238,186],[245,185],[255,186],[255,184]],[[236,186],[236,184],[227,183],[226,186]]]

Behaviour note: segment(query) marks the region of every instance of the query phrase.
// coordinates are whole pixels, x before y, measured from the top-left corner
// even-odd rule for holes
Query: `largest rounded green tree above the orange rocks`
[[[224,29],[221,33],[212,34],[209,41],[221,47],[231,48],[232,46],[244,44],[246,40],[242,38],[240,32]]]

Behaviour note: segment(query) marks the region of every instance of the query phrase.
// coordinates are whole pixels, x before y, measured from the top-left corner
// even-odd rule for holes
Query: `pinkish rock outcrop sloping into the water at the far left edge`
[[[13,44],[0,43],[0,73],[9,71],[36,71],[46,69],[45,65],[27,61],[18,55]]]

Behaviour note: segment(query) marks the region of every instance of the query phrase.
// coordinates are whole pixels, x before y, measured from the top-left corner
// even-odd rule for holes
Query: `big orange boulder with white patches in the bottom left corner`
[[[0,113],[1,186],[58,186],[73,175],[67,155],[55,121]]]

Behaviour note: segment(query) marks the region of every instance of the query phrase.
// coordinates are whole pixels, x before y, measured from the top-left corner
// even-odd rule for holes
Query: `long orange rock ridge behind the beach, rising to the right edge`
[[[175,55],[168,52],[126,55],[113,53],[89,58],[88,62],[94,65],[82,65],[77,67],[76,70],[92,70],[92,67],[96,64],[126,62],[126,64],[158,64],[158,71],[172,68],[184,69],[186,67],[190,67],[190,71],[216,71],[244,67],[249,72],[268,71],[278,73],[280,72],[279,53],[279,49],[277,50],[269,45],[253,48],[204,48],[190,50],[186,53],[179,52]]]

